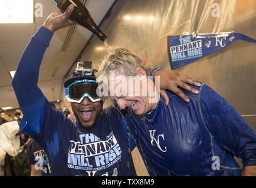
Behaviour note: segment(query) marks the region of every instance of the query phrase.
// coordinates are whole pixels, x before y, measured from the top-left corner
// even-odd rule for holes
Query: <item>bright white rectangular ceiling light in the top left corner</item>
[[[0,0],[0,24],[33,23],[33,0]]]

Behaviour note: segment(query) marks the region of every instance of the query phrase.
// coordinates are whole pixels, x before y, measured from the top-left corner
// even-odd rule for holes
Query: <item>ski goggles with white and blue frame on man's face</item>
[[[97,95],[97,87],[96,80],[76,80],[65,89],[65,97],[68,102],[80,103],[84,98],[90,99],[91,102],[98,102],[101,99]]]

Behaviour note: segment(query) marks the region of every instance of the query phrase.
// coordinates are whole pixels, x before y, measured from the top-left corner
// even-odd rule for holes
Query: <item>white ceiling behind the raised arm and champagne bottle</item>
[[[84,2],[94,21],[99,25],[114,0]],[[34,4],[37,3],[42,4],[43,17],[35,17],[33,24],[0,24],[0,108],[19,108],[9,71],[17,68],[19,58],[31,36],[40,28],[47,16],[57,10],[50,0],[35,0]],[[68,30],[69,27],[55,32],[41,64],[38,86],[50,102],[60,99],[63,77],[92,35],[90,31],[77,25],[66,50],[61,52]]]

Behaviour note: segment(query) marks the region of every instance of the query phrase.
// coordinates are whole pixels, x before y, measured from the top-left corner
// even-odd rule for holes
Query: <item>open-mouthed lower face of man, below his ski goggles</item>
[[[71,107],[80,124],[85,129],[90,129],[100,116],[103,103],[101,101],[91,102],[90,99],[84,98],[81,103],[71,103]]]

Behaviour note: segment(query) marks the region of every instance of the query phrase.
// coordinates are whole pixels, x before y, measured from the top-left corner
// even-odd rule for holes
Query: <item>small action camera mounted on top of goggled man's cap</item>
[[[73,76],[92,76],[93,66],[91,61],[78,62],[76,72],[73,73]]]

